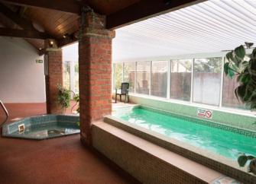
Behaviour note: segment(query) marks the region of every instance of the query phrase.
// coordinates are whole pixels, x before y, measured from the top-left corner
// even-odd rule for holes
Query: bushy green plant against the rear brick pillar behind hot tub
[[[66,88],[60,84],[57,84],[57,88],[57,102],[63,109],[66,109],[70,106],[70,90],[66,90]]]

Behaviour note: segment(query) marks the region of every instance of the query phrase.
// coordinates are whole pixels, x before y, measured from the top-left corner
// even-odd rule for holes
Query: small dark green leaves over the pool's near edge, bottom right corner
[[[245,164],[248,163],[248,172],[256,174],[256,158],[252,155],[241,154],[238,157],[238,164],[240,167],[245,167]]]

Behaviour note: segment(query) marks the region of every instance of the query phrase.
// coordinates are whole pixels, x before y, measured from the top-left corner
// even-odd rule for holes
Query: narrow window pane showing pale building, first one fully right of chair
[[[149,94],[151,62],[137,62],[136,93]]]

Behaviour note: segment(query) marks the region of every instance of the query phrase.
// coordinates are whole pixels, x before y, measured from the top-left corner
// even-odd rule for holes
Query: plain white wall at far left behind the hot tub
[[[45,102],[44,64],[25,40],[0,36],[0,100],[4,103]]]

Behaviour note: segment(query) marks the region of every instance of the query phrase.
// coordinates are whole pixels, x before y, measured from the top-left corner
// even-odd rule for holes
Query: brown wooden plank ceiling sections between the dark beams
[[[96,8],[97,12],[100,14],[108,15],[138,1],[139,0],[89,0],[87,3],[90,7]],[[5,1],[2,5],[5,5],[11,11],[14,11],[15,14],[19,14],[19,16],[31,21],[36,30],[48,33],[57,40],[62,39],[63,35],[72,34],[79,30],[78,14],[32,6],[25,6],[24,8],[24,6],[8,4],[8,2]],[[0,24],[11,29],[21,29],[18,24],[14,24],[9,18],[6,18],[5,15],[1,13]],[[25,38],[25,40],[31,43],[36,49],[44,48],[44,40],[31,38]]]

